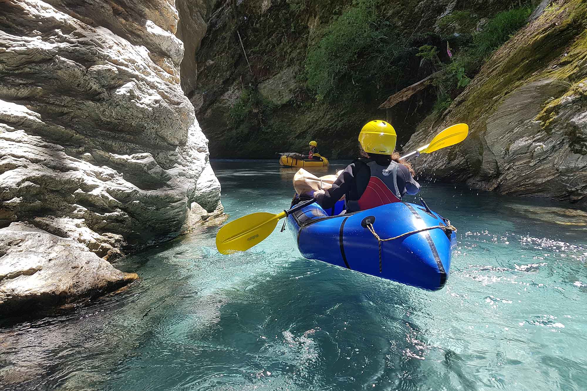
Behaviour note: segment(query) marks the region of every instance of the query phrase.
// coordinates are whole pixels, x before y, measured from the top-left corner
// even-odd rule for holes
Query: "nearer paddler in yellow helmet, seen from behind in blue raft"
[[[349,164],[328,190],[313,196],[322,208],[332,208],[345,195],[346,211],[356,212],[402,201],[405,194],[417,194],[420,185],[412,177],[410,163],[394,152],[397,134],[382,120],[371,121],[359,133],[363,159]]]

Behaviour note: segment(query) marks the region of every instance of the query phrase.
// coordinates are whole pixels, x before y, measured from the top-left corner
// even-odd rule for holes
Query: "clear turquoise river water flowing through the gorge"
[[[213,166],[231,218],[291,200],[294,171],[273,161]],[[421,195],[458,228],[441,291],[305,260],[279,227],[219,255],[207,228],[120,261],[141,279],[119,294],[0,321],[0,388],[587,389],[587,213],[439,183]]]

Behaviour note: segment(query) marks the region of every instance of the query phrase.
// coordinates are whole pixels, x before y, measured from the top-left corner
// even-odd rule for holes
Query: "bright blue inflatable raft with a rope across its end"
[[[448,278],[457,243],[454,232],[434,228],[381,243],[363,220],[370,217],[380,238],[396,237],[424,227],[447,225],[447,220],[420,205],[392,203],[350,214],[339,201],[334,210],[309,205],[288,216],[288,227],[302,256],[342,268],[436,291]],[[381,266],[381,269],[380,269]]]

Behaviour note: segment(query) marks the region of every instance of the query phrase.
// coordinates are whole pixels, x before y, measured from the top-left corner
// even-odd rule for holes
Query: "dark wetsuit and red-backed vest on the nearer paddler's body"
[[[318,204],[329,209],[345,195],[346,211],[356,212],[399,202],[403,195],[420,191],[420,184],[406,166],[392,161],[389,156],[376,159],[355,160],[349,164],[331,188],[324,194],[316,194]]]

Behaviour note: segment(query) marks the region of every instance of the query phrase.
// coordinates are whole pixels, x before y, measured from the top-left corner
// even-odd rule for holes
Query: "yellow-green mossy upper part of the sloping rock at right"
[[[454,120],[477,122],[491,114],[508,93],[525,83],[572,77],[580,68],[580,59],[587,54],[586,17],[585,3],[575,0],[556,12],[542,15],[532,23],[532,28],[515,35],[488,59],[476,77],[478,85],[461,98],[464,104],[454,113]],[[565,57],[568,42],[573,42],[572,50]],[[570,62],[569,56],[572,56]],[[566,65],[558,67],[555,60],[564,61]]]

